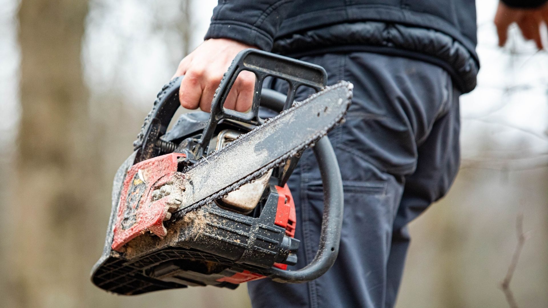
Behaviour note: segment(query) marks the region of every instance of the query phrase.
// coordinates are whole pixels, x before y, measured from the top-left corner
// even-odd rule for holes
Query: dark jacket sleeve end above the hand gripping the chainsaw
[[[230,38],[270,51],[293,0],[219,0],[208,38]]]

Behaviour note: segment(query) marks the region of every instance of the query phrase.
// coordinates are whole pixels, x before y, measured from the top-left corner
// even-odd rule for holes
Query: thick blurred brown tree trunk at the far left
[[[16,152],[10,278],[19,307],[81,307],[89,268],[77,238],[93,191],[88,93],[81,48],[87,0],[22,1],[21,121]],[[3,300],[2,300],[3,301]]]

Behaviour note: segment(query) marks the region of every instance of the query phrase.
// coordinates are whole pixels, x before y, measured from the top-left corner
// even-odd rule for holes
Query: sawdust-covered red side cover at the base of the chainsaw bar
[[[186,156],[169,153],[129,168],[118,203],[112,249],[121,251],[125,243],[146,231],[165,236],[163,220],[167,213],[166,198],[152,201],[152,191],[172,180],[180,157]]]

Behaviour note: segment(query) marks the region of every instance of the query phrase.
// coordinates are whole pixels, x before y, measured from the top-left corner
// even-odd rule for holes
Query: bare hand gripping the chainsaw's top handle
[[[185,75],[179,89],[181,106],[211,110],[215,90],[234,57],[243,49],[254,48],[231,39],[208,39],[181,60],[173,78]],[[255,75],[242,71],[227,96],[225,108],[245,112],[253,102]]]

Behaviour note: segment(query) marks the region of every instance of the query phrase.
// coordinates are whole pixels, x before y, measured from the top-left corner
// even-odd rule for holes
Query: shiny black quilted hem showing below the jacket
[[[278,39],[272,52],[298,58],[319,53],[375,52],[431,62],[463,93],[476,87],[479,65],[459,41],[435,30],[385,22],[339,24]]]

